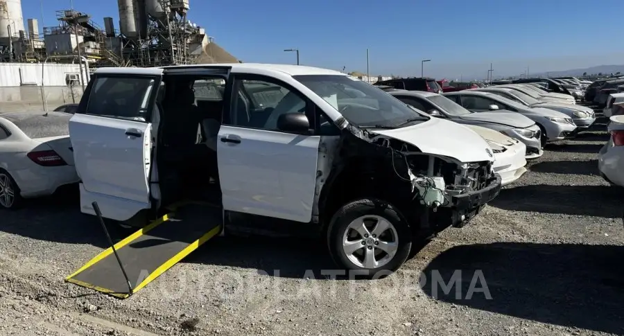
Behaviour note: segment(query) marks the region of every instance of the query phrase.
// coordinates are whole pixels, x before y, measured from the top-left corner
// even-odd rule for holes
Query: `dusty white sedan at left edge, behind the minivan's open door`
[[[79,181],[63,112],[0,114],[0,209]]]

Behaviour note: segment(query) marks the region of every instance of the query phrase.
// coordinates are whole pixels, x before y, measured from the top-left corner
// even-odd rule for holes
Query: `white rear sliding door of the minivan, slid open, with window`
[[[69,134],[82,180],[80,210],[94,215],[91,204],[98,202],[105,218],[123,221],[150,208],[150,120],[162,69],[114,70],[94,74]]]

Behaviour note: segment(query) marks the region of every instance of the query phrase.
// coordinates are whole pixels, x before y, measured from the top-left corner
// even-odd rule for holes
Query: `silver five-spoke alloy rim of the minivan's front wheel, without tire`
[[[343,236],[343,251],[349,261],[366,269],[383,267],[395,257],[398,248],[397,229],[378,215],[356,218]]]

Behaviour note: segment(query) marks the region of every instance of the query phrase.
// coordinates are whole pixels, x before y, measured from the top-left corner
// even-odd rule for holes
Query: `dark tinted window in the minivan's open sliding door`
[[[155,78],[98,76],[89,92],[86,114],[147,121]]]

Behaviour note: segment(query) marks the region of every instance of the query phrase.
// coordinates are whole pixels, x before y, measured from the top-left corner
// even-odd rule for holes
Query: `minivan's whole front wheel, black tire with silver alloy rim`
[[[386,229],[375,232],[380,223]],[[327,229],[334,262],[365,278],[381,278],[399,269],[410,254],[412,239],[412,231],[399,211],[388,202],[374,199],[345,204],[333,215]]]

